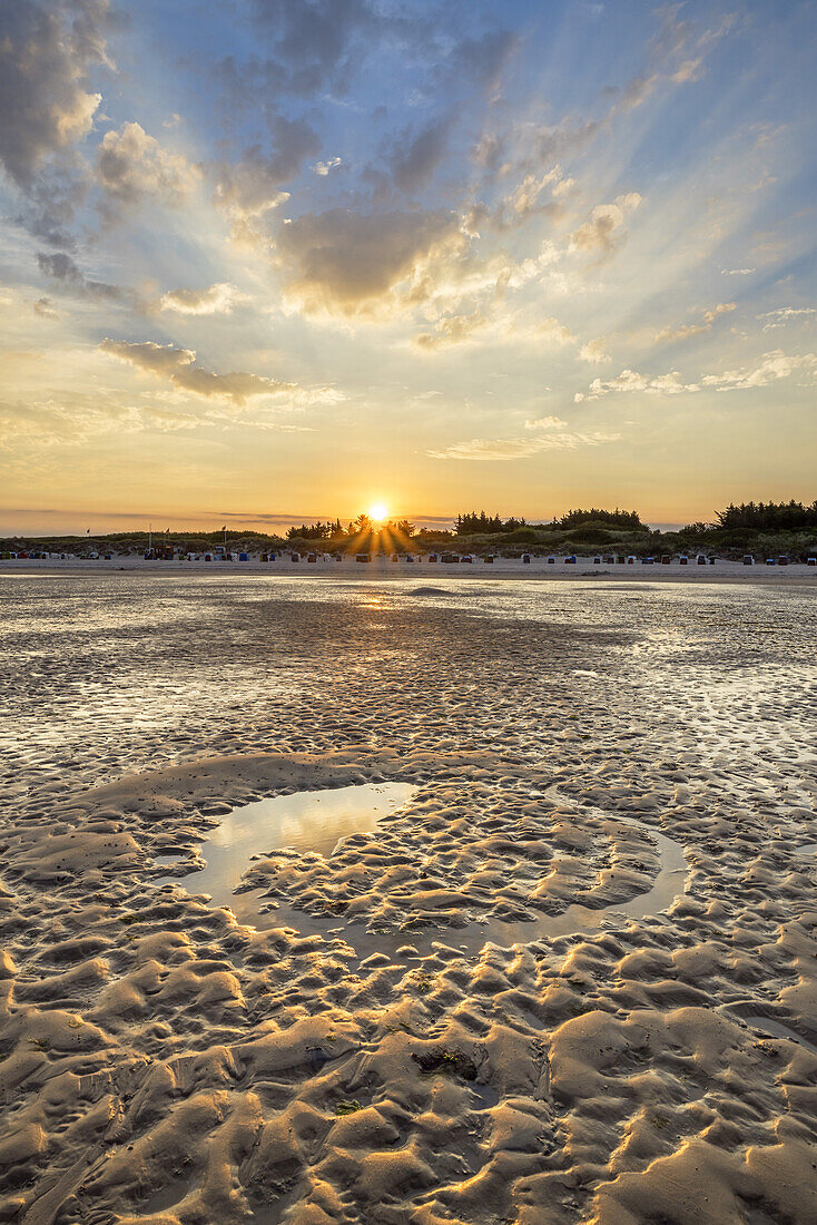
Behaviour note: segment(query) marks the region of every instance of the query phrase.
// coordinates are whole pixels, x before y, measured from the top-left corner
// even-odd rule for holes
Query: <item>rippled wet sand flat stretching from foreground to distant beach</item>
[[[817,587],[0,609],[0,1221],[817,1220]]]

